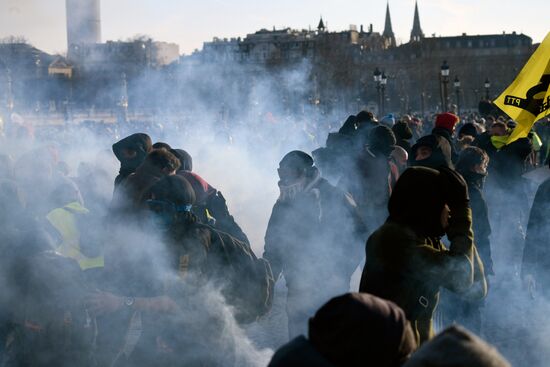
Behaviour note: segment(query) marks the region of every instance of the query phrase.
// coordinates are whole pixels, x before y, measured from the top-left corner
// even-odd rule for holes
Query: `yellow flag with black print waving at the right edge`
[[[535,121],[550,112],[550,33],[531,55],[514,82],[494,101],[518,124],[508,143],[527,136]]]

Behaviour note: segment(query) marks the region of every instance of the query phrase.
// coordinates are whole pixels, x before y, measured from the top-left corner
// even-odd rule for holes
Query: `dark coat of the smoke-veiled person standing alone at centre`
[[[323,178],[291,199],[273,206],[265,234],[263,257],[289,289],[342,292],[362,254],[365,227],[349,195]],[[345,291],[344,290],[344,291]]]

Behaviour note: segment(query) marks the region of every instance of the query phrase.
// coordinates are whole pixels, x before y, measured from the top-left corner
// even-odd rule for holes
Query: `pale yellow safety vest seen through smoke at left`
[[[72,202],[63,208],[52,210],[46,219],[59,232],[62,241],[54,250],[63,256],[78,262],[82,270],[102,268],[105,264],[103,254],[97,257],[87,257],[80,252],[80,231],[76,222],[77,215],[88,214],[90,211],[79,202]]]

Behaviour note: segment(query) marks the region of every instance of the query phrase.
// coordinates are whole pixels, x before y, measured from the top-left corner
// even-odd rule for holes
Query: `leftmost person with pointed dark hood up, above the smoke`
[[[113,153],[120,161],[120,171],[115,179],[115,191],[118,185],[136,171],[152,149],[151,138],[143,133],[127,136],[113,144]]]

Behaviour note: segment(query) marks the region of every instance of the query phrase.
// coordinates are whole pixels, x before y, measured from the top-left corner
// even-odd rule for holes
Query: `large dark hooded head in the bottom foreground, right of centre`
[[[401,366],[416,349],[405,312],[367,293],[347,293],[309,320],[309,340],[335,366]]]

